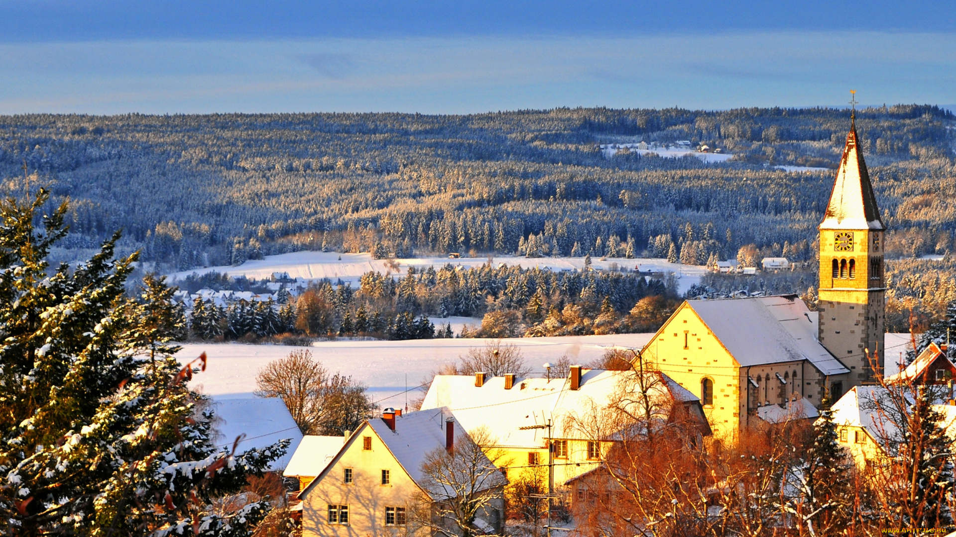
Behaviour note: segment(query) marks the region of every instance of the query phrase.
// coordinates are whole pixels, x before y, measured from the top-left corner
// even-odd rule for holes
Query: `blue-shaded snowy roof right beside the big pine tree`
[[[285,468],[293,457],[293,452],[302,440],[293,417],[289,414],[284,402],[279,397],[243,397],[220,398],[212,397],[216,416],[220,419],[216,423],[219,435],[215,441],[221,447],[231,449],[236,437],[245,434],[246,438],[239,442],[237,452],[251,448],[269,447],[273,443],[290,439],[289,449],[281,458],[270,464],[269,469]]]

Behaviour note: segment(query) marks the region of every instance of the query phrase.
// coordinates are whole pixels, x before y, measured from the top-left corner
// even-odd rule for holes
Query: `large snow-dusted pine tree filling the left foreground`
[[[48,273],[67,210],[41,213],[48,200],[41,189],[33,202],[0,204],[0,531],[250,535],[268,503],[210,504],[288,443],[215,447],[213,416],[185,385],[194,370],[171,343],[184,328],[174,290],[146,276],[139,296],[123,296],[137,254],[114,258],[119,234],[88,262]]]

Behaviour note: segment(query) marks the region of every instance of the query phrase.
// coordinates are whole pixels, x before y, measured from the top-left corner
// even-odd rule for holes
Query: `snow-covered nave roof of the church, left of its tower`
[[[742,366],[807,360],[823,375],[850,372],[816,340],[811,311],[795,294],[684,304]]]

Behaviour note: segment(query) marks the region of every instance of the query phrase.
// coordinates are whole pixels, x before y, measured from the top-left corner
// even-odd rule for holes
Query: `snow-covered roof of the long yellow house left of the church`
[[[654,386],[656,397],[696,401],[698,397],[663,374],[663,383]],[[548,437],[545,425],[552,420],[554,438],[576,438],[576,431],[566,429],[566,418],[577,412],[604,407],[615,392],[633,382],[630,372],[585,369],[581,371],[579,390],[571,390],[568,378],[516,378],[511,390],[505,389],[504,376],[491,377],[484,385],[475,386],[474,376],[439,375],[432,380],[422,403],[424,409],[447,408],[468,430],[485,426],[495,445],[539,447]]]

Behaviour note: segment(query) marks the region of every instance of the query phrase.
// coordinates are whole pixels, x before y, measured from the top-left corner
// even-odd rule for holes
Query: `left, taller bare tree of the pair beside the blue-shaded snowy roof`
[[[315,434],[315,418],[329,372],[312,357],[312,351],[295,349],[272,360],[255,378],[259,397],[282,397],[303,435]]]

